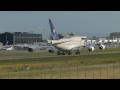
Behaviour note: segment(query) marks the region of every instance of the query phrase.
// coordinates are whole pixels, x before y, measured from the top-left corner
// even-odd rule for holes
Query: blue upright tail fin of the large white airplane
[[[52,24],[51,19],[49,19],[49,24],[50,24],[50,28],[51,28],[52,40],[59,40],[60,38],[59,38],[58,34],[56,33],[56,29],[54,28],[54,25]]]

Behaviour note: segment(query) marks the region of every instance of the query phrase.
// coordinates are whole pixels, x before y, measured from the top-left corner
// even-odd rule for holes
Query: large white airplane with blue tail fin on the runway
[[[48,43],[51,43],[56,49],[57,49],[57,55],[71,55],[72,50],[76,50],[75,54],[80,54],[80,50],[83,47],[88,47],[89,51],[94,51],[95,47],[93,45],[98,45],[99,49],[104,50],[105,45],[103,43],[97,42],[94,44],[86,43],[85,38],[86,37],[80,37],[80,36],[74,36],[71,38],[62,38],[60,39],[56,29],[51,21],[49,19],[50,29],[51,29],[51,38],[52,40],[47,40]],[[53,52],[53,49],[49,49],[49,52]]]

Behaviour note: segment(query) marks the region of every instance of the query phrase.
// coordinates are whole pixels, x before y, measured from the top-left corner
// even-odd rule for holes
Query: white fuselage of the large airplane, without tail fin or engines
[[[72,37],[69,39],[52,40],[52,45],[58,50],[69,51],[74,48],[85,46],[85,41],[81,37]]]

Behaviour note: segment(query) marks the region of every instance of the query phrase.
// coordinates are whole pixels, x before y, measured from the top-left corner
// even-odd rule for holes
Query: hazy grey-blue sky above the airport
[[[109,36],[120,32],[120,11],[0,11],[0,33],[34,32],[50,34],[48,19],[57,33],[75,32],[84,36]]]

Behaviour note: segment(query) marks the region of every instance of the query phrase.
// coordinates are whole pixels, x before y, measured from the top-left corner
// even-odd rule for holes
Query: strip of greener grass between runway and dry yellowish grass
[[[0,60],[0,65],[16,65],[16,64],[66,64],[68,62],[75,63],[107,63],[107,62],[120,62],[120,53],[112,54],[92,54],[81,56],[60,56],[49,58],[34,58],[34,59],[14,59],[14,60]]]

